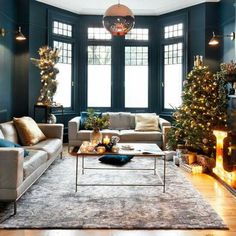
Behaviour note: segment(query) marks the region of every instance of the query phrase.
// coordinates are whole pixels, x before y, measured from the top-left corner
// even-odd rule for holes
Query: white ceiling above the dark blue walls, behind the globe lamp
[[[103,15],[105,10],[118,0],[37,0],[76,14]],[[204,2],[220,0],[121,0],[134,15],[162,15]],[[199,16],[200,17],[200,16]]]

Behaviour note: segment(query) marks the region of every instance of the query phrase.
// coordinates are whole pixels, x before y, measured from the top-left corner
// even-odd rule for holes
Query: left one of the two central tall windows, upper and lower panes
[[[111,35],[103,28],[88,28],[88,107],[111,107],[111,46],[100,45]]]

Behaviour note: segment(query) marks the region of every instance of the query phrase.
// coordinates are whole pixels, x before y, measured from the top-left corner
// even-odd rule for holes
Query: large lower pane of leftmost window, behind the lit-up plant
[[[57,74],[58,86],[54,101],[64,107],[71,107],[72,44],[54,41],[53,46],[60,49],[60,59],[56,65],[59,69]]]

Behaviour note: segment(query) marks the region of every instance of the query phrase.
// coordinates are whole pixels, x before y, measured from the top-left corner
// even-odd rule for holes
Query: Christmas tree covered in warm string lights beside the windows
[[[213,129],[226,127],[227,90],[221,72],[212,74],[202,63],[194,64],[184,81],[182,105],[173,114],[168,147],[184,144],[211,155],[216,142]]]

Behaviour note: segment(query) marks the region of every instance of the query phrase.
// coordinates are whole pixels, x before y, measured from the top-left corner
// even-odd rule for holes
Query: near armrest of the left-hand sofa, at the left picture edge
[[[23,162],[23,148],[0,148],[0,189],[16,189],[21,185]]]

